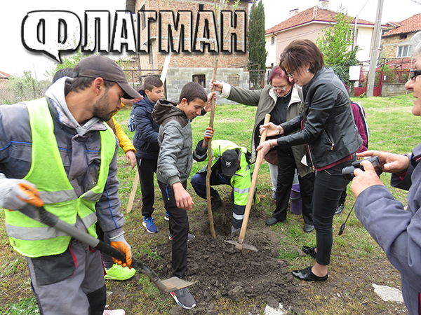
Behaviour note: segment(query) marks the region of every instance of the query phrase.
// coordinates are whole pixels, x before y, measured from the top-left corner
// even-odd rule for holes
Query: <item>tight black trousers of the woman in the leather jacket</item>
[[[349,183],[342,177],[342,169],[350,166],[355,160],[354,156],[351,160],[316,173],[313,191],[313,221],[316,229],[316,262],[320,265],[326,266],[330,263],[333,216],[335,216],[340,195]]]

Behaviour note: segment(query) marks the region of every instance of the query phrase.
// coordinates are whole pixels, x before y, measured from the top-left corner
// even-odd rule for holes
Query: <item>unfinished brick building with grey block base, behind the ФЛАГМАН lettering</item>
[[[219,3],[213,0],[126,1],[126,10],[135,13],[140,34],[138,46],[142,50],[132,57],[131,69],[140,69],[142,76],[159,74],[167,52],[173,50],[166,76],[167,99],[178,100],[181,88],[190,81],[200,83],[208,91],[214,55],[218,52],[217,80],[249,87],[246,69],[249,1],[240,1],[236,13],[234,1],[229,1],[220,10],[222,22],[216,21],[220,25],[218,29],[215,2]]]

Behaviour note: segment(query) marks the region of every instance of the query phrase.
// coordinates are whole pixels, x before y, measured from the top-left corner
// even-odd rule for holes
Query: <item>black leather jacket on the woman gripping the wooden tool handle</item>
[[[320,168],[355,153],[363,144],[354,122],[347,90],[332,69],[323,67],[302,86],[304,112],[281,124],[278,146],[308,144],[314,167]],[[290,134],[297,129],[302,130]]]

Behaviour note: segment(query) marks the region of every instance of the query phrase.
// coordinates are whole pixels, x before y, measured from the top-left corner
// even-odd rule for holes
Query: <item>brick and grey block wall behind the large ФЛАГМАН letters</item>
[[[230,0],[229,3],[225,5],[223,10],[232,10],[232,5],[234,1]],[[151,22],[149,28],[150,34],[150,46],[149,46],[149,54],[140,54],[136,57],[133,57],[135,62],[132,62],[131,69],[162,69],[163,63],[165,61],[166,53],[159,52],[159,36],[162,38],[161,43],[168,43],[168,27],[162,27],[159,29],[159,14],[161,13],[162,18],[162,25],[168,25],[172,21],[171,12],[177,14],[180,13],[180,20],[179,20],[179,27],[181,24],[186,26],[191,25],[192,27],[185,27],[186,35],[185,37],[195,38],[194,34],[199,34],[199,38],[203,38],[203,25],[196,29],[196,20],[198,18],[198,11],[199,5],[203,6],[203,10],[213,11],[215,10],[215,3],[213,0],[136,0],[135,3],[135,10],[152,10],[156,11],[156,20]],[[171,12],[166,13],[165,10],[169,10]],[[180,11],[188,10],[191,11],[191,16],[186,13],[182,13]],[[248,53],[245,43],[243,43],[243,37],[247,34],[248,29],[248,1],[241,1],[239,6],[236,10],[244,10],[244,15],[239,15],[237,19],[237,26],[236,26],[236,34],[239,39],[239,48],[244,50],[242,52],[234,52],[234,53],[223,53],[221,52],[218,55],[218,72],[217,72],[217,80],[227,82],[227,78],[229,74],[237,76],[239,78],[239,86],[248,89],[248,71],[246,71],[246,65],[248,64]],[[161,11],[161,12],[160,12]],[[154,13],[147,13],[149,15],[154,15]],[[207,18],[212,17],[210,13],[201,13],[206,15]],[[140,24],[140,48],[145,49],[147,45],[147,38],[148,38],[148,28],[143,27],[145,18],[147,15],[138,15],[137,16],[137,24]],[[224,29],[229,29],[229,16],[225,13],[224,18]],[[189,22],[191,18],[191,22]],[[146,25],[146,24],[145,24]],[[174,29],[173,29],[174,31]],[[189,33],[190,31],[190,33]],[[230,33],[233,30],[230,30]],[[212,25],[209,27],[209,38],[215,38],[215,31],[213,31]],[[191,34],[192,33],[192,34]],[[226,34],[226,31],[225,31]],[[225,36],[224,34],[224,36]],[[175,49],[178,47],[178,40],[179,34],[173,34],[173,43],[175,45]],[[218,35],[219,37],[219,35]],[[138,39],[139,40],[139,39]],[[224,49],[230,50],[231,48],[227,45],[227,40],[225,41],[225,45],[223,46]],[[222,47],[222,43],[220,44],[220,48]],[[143,46],[142,46],[143,45]],[[192,47],[192,43],[189,40],[185,41],[186,47]],[[215,42],[210,41],[209,43],[210,49],[215,49]],[[163,45],[163,48],[166,48]],[[196,49],[200,50],[201,47],[196,45]],[[215,54],[208,52],[205,48],[204,52],[179,52],[179,53],[172,53],[171,61],[169,64],[168,73],[166,76],[166,91],[167,99],[171,99],[173,101],[178,101],[178,97],[180,95],[182,87],[193,80],[194,75],[204,75],[206,77],[206,92],[210,92],[208,83],[212,78],[213,73],[213,66],[214,66],[214,56]],[[159,74],[159,72],[154,71],[142,71],[142,74]],[[226,99],[217,98],[217,104],[233,104],[234,102],[227,101]]]

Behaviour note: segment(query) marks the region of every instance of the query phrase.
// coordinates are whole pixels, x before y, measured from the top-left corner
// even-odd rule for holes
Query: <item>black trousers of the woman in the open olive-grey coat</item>
[[[277,149],[278,155],[278,183],[276,186],[276,209],[272,214],[278,221],[285,221],[290,198],[291,188],[295,174],[295,160],[290,148]],[[299,176],[300,194],[302,200],[302,218],[304,223],[313,225],[312,199],[314,186],[314,173]]]

